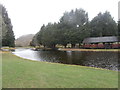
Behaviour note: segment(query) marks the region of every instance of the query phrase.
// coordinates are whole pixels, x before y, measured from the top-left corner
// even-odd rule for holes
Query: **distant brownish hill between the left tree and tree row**
[[[15,46],[29,46],[30,41],[32,41],[32,38],[34,37],[34,34],[27,34],[20,36],[15,40]]]

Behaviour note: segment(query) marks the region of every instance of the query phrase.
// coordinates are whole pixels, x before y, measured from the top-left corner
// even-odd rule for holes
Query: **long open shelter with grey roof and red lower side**
[[[116,36],[90,37],[83,40],[83,48],[120,48],[119,42]]]

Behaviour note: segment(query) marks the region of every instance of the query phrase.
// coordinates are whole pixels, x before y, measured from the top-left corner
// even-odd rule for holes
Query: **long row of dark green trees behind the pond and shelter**
[[[40,31],[33,37],[31,46],[55,48],[57,44],[81,45],[84,38],[118,36],[117,23],[111,14],[106,11],[99,13],[89,21],[88,13],[83,9],[65,12],[57,23],[43,25]]]

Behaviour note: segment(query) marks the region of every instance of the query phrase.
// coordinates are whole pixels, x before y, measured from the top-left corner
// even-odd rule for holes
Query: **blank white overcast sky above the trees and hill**
[[[7,8],[15,37],[35,34],[43,24],[58,22],[65,11],[83,8],[89,20],[99,12],[110,12],[118,21],[119,0],[0,0]]]

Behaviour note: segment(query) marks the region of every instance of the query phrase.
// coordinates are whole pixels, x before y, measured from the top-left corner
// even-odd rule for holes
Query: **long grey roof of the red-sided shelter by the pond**
[[[85,38],[83,43],[102,43],[102,42],[118,42],[118,37],[108,36],[108,37],[90,37]]]

